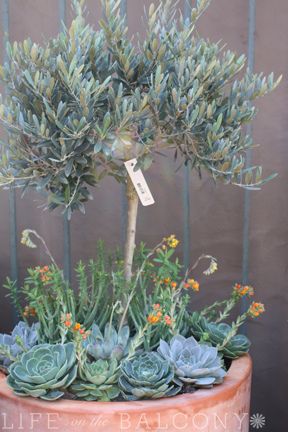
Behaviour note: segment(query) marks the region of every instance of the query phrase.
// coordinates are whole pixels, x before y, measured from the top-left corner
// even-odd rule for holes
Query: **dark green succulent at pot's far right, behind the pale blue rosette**
[[[221,353],[226,358],[238,358],[246,354],[251,346],[249,339],[242,334],[227,339],[231,331],[229,324],[209,322],[196,312],[191,316],[190,325],[191,332],[197,339],[204,339],[215,347],[221,346]],[[226,341],[225,346],[222,346],[224,341]]]

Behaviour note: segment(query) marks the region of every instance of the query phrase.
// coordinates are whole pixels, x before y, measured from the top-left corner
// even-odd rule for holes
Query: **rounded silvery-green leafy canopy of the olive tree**
[[[250,73],[243,55],[194,34],[210,0],[197,0],[190,20],[174,0],[151,4],[139,43],[128,36],[120,0],[102,3],[100,30],[73,0],[76,18],[56,38],[8,44],[0,121],[10,160],[4,152],[1,182],[45,189],[48,207],[70,216],[84,211],[88,185],[106,175],[125,182],[127,158],[148,169],[160,144],[199,174],[258,188],[265,180],[261,167],[245,168],[253,142],[243,125],[279,80]]]

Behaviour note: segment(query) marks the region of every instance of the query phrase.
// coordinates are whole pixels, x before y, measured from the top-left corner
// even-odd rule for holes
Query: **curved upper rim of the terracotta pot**
[[[241,385],[251,378],[252,360],[249,354],[246,354],[236,360],[233,360],[223,384],[217,385],[212,389],[200,389],[195,393],[185,393],[171,398],[157,400],[144,400],[136,402],[91,402],[91,401],[74,401],[62,399],[55,402],[46,402],[32,397],[16,396],[6,383],[5,375],[0,372],[0,399],[8,399],[15,404],[21,400],[22,406],[35,408],[49,408],[50,412],[62,412],[68,414],[105,414],[117,412],[143,412],[145,410],[158,411],[163,405],[165,409],[181,408],[183,405],[193,404],[193,409],[201,409],[203,404],[213,405],[231,399],[239,390]]]

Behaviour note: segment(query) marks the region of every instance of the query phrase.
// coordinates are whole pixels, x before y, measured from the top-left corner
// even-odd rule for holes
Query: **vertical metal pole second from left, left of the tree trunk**
[[[62,22],[66,23],[67,12],[66,0],[59,0],[59,30],[62,28]],[[64,278],[71,282],[72,265],[71,265],[71,227],[67,216],[63,216],[63,250],[64,250]]]

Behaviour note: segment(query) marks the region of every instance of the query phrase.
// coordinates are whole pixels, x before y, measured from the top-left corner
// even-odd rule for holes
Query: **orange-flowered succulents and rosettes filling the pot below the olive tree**
[[[26,231],[24,237],[29,246],[31,238]],[[236,284],[227,299],[191,313],[191,302],[200,284],[189,272],[183,275],[174,255],[178,244],[171,235],[152,250],[143,244],[136,250],[137,269],[131,280],[133,295],[126,310],[121,304],[127,289],[123,261],[117,258],[118,252],[109,257],[101,248],[95,280],[98,271],[104,272],[110,275],[108,285],[113,286],[107,300],[109,319],[102,325],[97,316],[89,327],[84,325],[84,317],[78,321],[87,295],[84,283],[73,293],[75,302],[70,312],[71,297],[62,295],[64,282],[55,284],[63,273],[53,264],[40,268],[42,271],[39,267],[30,269],[23,288],[16,288],[8,280],[6,287],[13,303],[26,304],[19,309],[25,322],[20,322],[11,336],[2,335],[0,345],[1,353],[10,350],[15,354],[11,341],[17,341],[22,349],[17,348],[17,356],[11,356],[9,361],[8,384],[15,393],[45,400],[69,395],[87,401],[133,401],[171,397],[221,384],[229,365],[225,360],[249,350],[250,342],[239,334],[242,324],[249,317],[258,317],[264,306],[252,301],[252,287]],[[203,255],[191,267],[194,277],[197,265],[204,260],[209,261],[203,272],[206,276],[217,270],[216,259]],[[108,263],[112,266],[110,270]],[[90,266],[94,267],[94,263]],[[64,286],[70,292],[66,282]],[[43,305],[51,301],[51,287],[57,299],[58,322],[51,319],[49,340],[45,331],[49,315],[43,315]],[[41,296],[33,295],[30,303],[34,290],[41,292]],[[232,324],[222,322],[243,297],[248,301],[247,311]],[[27,322],[31,320],[36,323],[29,326]],[[19,335],[23,338],[21,343],[17,340]],[[0,362],[7,366],[6,357],[2,356]]]

